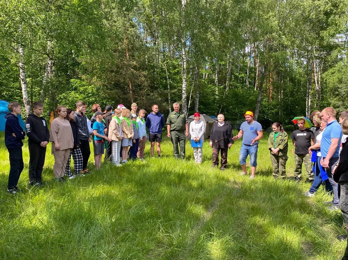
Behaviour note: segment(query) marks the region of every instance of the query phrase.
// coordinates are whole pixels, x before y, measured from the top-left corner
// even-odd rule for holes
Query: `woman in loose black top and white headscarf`
[[[210,147],[213,148],[213,167],[219,166],[219,152],[221,153],[221,170],[226,170],[227,153],[234,141],[232,140],[232,127],[229,122],[224,121],[223,114],[217,116],[210,132]]]

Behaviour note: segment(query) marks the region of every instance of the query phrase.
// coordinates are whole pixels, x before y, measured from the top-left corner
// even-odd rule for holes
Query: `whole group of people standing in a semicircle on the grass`
[[[26,130],[19,125],[17,115],[21,114],[21,105],[10,102],[5,118],[5,145],[9,152],[10,171],[7,192],[16,193],[19,176],[23,171],[22,140],[25,134],[29,144],[29,185],[42,185],[42,170],[45,163],[46,147],[52,142],[54,155],[53,172],[57,181],[65,181],[64,175],[73,179],[77,175],[89,173],[87,163],[90,157],[89,142],[93,140],[95,168],[101,166],[102,155],[104,160],[111,161],[120,166],[127,163],[128,152],[132,159],[144,160],[146,139],[151,142],[151,157],[157,148],[157,157],[161,155],[162,131],[167,124],[167,136],[171,138],[175,158],[185,158],[185,141],[189,133],[195,163],[203,160],[203,143],[206,131],[205,122],[200,120],[200,114],[194,114],[194,121],[188,126],[187,116],[180,111],[179,103],[173,104],[174,111],[165,121],[159,112],[157,104],[152,105],[152,112],[145,120],[146,111],[137,110],[133,103],[132,110],[119,104],[117,109],[108,105],[102,112],[99,104],[94,104],[91,120],[85,115],[86,104],[82,101],[76,103],[76,110],[58,106],[55,110],[57,117],[51,122],[50,130],[46,120],[41,117],[44,105],[40,102],[33,103],[33,113],[25,122]],[[224,115],[217,116],[211,132],[209,146],[212,147],[212,165],[220,169],[227,167],[228,149],[235,140],[243,137],[239,153],[239,163],[242,175],[247,174],[246,158],[250,157],[251,176],[255,177],[257,166],[257,152],[259,140],[263,136],[261,124],[254,120],[251,111],[244,115],[245,122],[240,126],[237,136],[233,136],[231,124],[224,120]],[[295,158],[295,180],[301,180],[302,164],[306,167],[308,180],[312,183],[309,191],[305,193],[313,197],[320,185],[324,182],[327,192],[333,194],[333,200],[325,203],[331,204],[330,210],[341,209],[345,222],[348,223],[348,111],[339,115],[336,120],[336,111],[326,107],[322,111],[311,114],[315,129],[305,127],[306,119],[298,119],[299,129],[292,132],[291,139]],[[149,136],[147,130],[149,129]],[[268,138],[268,149],[275,179],[286,177],[286,162],[288,159],[288,136],[282,125],[278,122],[272,124],[272,132]],[[129,149],[130,147],[130,149]],[[74,174],[71,173],[71,156],[74,161]],[[313,166],[312,166],[313,162]],[[348,231],[348,224],[346,226]],[[348,259],[348,246],[345,256]]]

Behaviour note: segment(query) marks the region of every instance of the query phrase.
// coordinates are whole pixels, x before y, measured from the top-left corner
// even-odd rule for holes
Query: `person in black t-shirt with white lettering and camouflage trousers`
[[[308,148],[314,144],[314,134],[311,130],[304,127],[306,121],[300,118],[297,121],[298,130],[292,132],[292,144],[295,146],[295,180],[301,180],[302,163],[306,167],[307,178],[309,181],[314,181],[314,174],[311,163],[311,156],[308,153]]]

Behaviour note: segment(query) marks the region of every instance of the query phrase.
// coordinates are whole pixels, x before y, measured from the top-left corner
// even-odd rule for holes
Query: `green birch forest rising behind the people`
[[[347,109],[347,0],[0,0],[0,97],[263,127]]]

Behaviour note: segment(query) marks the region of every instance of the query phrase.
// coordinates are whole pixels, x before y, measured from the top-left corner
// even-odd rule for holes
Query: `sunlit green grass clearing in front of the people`
[[[9,163],[0,139],[0,259],[333,260],[346,247],[335,239],[345,233],[342,217],[323,204],[330,197],[322,188],[307,198],[309,183],[273,179],[266,137],[255,180],[239,175],[240,141],[221,172],[211,167],[207,142],[195,165],[188,142],[187,158],[175,160],[165,138],[160,159],[149,158],[147,143],[145,162],[103,164],[66,183],[54,181],[49,145],[47,185],[32,189],[25,141],[16,195],[5,193]],[[293,170],[289,151],[288,176]]]

